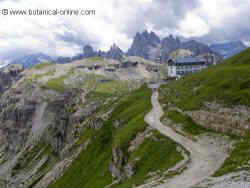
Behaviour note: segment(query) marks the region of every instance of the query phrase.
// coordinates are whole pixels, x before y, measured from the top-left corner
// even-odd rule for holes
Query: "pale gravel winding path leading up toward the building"
[[[182,174],[169,179],[167,183],[159,185],[159,188],[190,188],[211,176],[227,157],[223,148],[210,141],[194,142],[160,122],[163,110],[158,102],[158,91],[152,95],[153,109],[149,112],[145,121],[163,135],[182,145],[190,153],[191,162]],[[147,186],[146,186],[147,187]]]

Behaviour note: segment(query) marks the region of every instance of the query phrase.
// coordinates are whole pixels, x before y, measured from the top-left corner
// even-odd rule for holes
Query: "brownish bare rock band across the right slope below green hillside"
[[[244,106],[226,108],[206,104],[207,109],[187,112],[198,124],[222,133],[244,136],[250,130],[250,109]]]

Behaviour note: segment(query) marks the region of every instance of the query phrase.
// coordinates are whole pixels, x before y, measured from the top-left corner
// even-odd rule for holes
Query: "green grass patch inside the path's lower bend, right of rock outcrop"
[[[133,185],[141,185],[146,178],[150,177],[148,176],[149,172],[158,170],[164,172],[183,160],[182,155],[176,151],[177,145],[172,140],[167,139],[156,131],[153,134],[159,141],[148,138],[138,150],[129,156],[130,161],[140,158],[140,161],[137,163],[136,174],[131,179],[114,187],[130,188]]]

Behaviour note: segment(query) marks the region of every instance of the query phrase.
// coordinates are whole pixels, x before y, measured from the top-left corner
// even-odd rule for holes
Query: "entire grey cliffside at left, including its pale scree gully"
[[[23,85],[7,90],[0,98],[0,149],[4,146],[0,158],[6,159],[3,165],[6,163],[8,167],[0,164],[0,176],[5,173],[4,179],[9,179],[8,185],[15,188],[19,184],[29,185],[30,176],[39,178],[38,169],[51,163],[51,155],[62,157],[63,149],[74,142],[76,128],[71,109],[82,101],[78,89],[65,91],[48,101],[42,99],[46,92]],[[25,170],[26,167],[30,169]]]

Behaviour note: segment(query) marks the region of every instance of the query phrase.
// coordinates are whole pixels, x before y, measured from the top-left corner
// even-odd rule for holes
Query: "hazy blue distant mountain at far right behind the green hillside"
[[[210,45],[210,48],[220,54],[224,59],[232,57],[245,49],[247,46],[242,41],[232,41]]]

